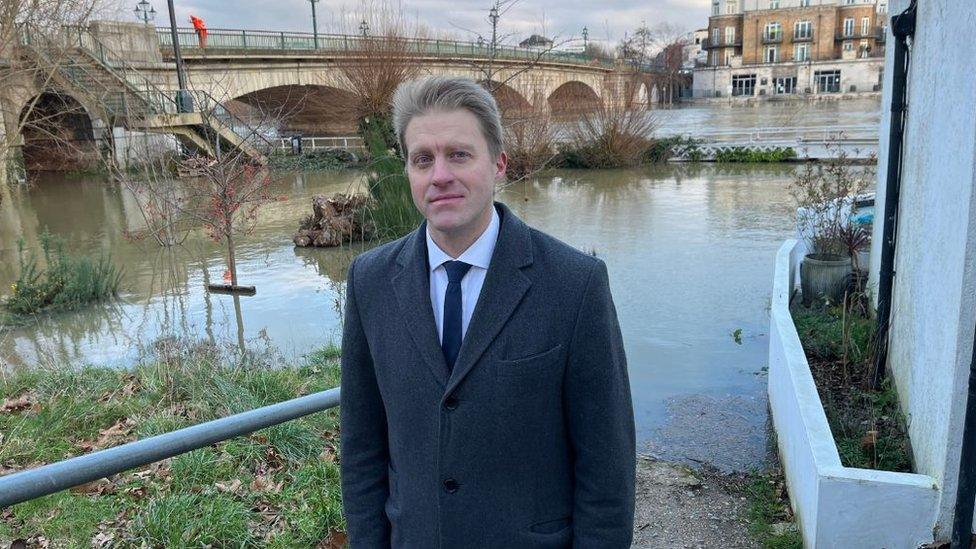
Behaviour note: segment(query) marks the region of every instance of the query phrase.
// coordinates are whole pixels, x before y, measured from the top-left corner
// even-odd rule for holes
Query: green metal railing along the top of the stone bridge
[[[177,40],[180,48],[199,49],[197,34],[191,28],[177,28]],[[172,48],[173,38],[169,27],[158,27],[160,47]],[[207,49],[245,49],[245,50],[281,50],[281,51],[327,51],[355,53],[362,51],[370,41],[378,37],[344,34],[319,34],[318,41],[313,33],[281,32],[241,29],[208,29]],[[461,40],[440,40],[433,38],[402,38],[404,53],[450,55],[452,57],[487,57],[491,54],[490,44],[466,42]],[[515,48],[511,46],[497,46],[495,56],[499,59],[535,59],[538,51]],[[542,55],[543,60],[552,62],[568,62],[575,64],[590,64],[594,60],[601,66],[612,67],[613,59],[582,55],[575,52],[549,51]]]

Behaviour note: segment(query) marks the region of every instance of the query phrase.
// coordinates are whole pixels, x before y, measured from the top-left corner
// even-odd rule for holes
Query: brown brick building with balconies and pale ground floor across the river
[[[887,0],[712,0],[695,97],[877,92]]]

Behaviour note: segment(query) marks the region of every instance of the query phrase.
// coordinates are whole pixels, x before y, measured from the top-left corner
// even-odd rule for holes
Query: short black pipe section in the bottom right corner
[[[956,487],[955,516],[952,517],[952,549],[969,549],[972,543],[973,507],[976,505],[976,326],[973,328],[973,358],[969,363],[969,396],[959,456],[959,485]]]

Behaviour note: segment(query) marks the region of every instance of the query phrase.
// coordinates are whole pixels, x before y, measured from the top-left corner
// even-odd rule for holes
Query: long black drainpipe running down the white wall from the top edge
[[[891,18],[895,37],[894,70],[891,78],[891,124],[888,132],[888,168],[885,178],[884,233],[881,240],[881,271],[878,280],[878,344],[874,354],[875,389],[881,387],[888,362],[888,324],[891,320],[891,288],[895,276],[895,226],[898,223],[898,195],[901,192],[902,141],[905,133],[905,97],[908,77],[908,38],[915,36],[916,1]]]

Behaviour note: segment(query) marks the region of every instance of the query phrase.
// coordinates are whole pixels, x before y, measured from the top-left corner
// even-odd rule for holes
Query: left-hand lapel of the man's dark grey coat
[[[441,387],[447,384],[447,364],[437,338],[430,303],[430,266],[427,263],[427,225],[422,224],[404,243],[397,256],[400,271],[393,276],[397,306],[405,328],[424,362]],[[462,348],[463,352],[463,348]]]

